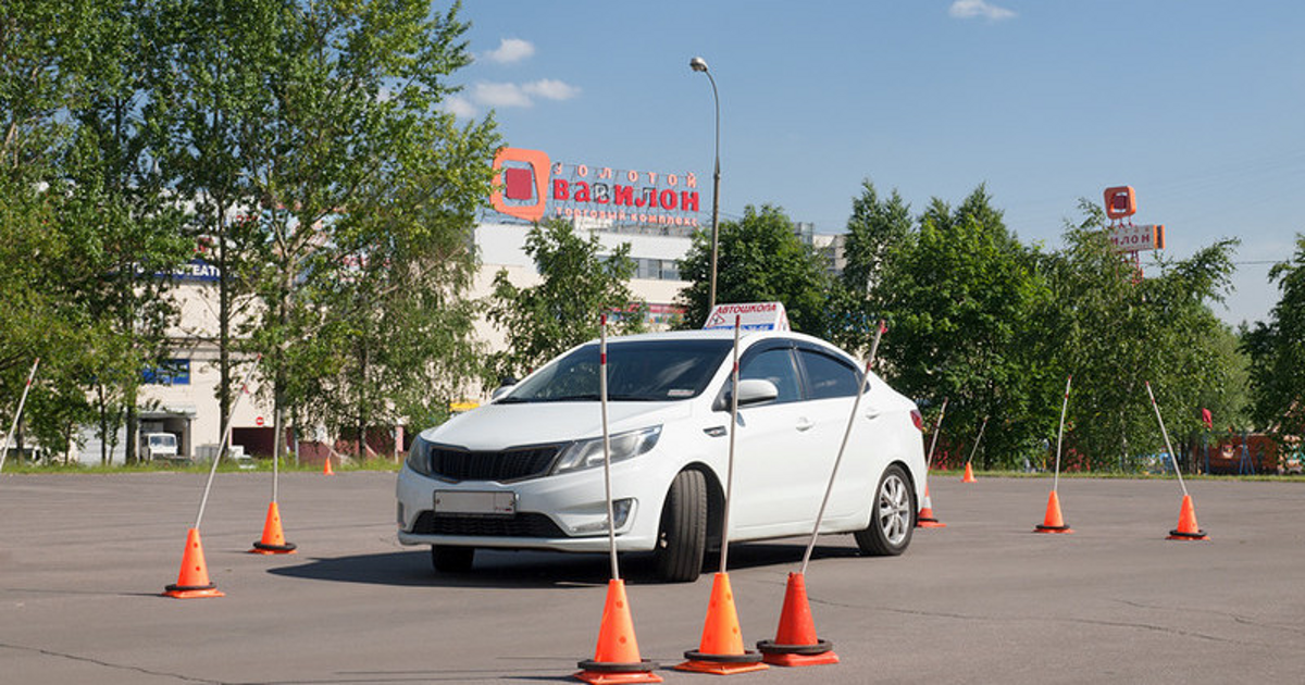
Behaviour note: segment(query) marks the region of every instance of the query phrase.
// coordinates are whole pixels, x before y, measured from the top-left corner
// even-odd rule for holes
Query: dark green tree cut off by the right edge
[[[1282,434],[1305,434],[1305,234],[1296,253],[1268,270],[1282,294],[1268,312],[1242,331],[1250,356],[1251,416],[1255,425]]]

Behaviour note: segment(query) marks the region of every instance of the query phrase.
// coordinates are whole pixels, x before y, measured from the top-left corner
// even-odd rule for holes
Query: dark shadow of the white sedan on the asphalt
[[[792,569],[801,562],[803,541],[771,541],[729,545],[731,570],[775,566]],[[818,544],[812,560],[848,558],[860,553],[856,547]],[[720,557],[709,553],[703,574],[719,570]],[[659,583],[651,553],[621,555],[621,577],[630,585]],[[566,555],[561,552],[478,549],[475,565],[467,573],[436,573],[431,553],[422,548],[411,552],[318,557],[292,566],[269,569],[268,573],[290,578],[338,583],[365,583],[407,587],[594,587],[607,585],[611,562],[606,555]]]

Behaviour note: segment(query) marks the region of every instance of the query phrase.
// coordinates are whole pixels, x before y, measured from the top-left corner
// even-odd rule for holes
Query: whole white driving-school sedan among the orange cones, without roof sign
[[[693,581],[719,548],[732,330],[608,341],[616,545]],[[749,331],[740,347],[729,540],[810,535],[863,380],[842,350]],[[870,377],[821,523],[867,555],[900,555],[924,495],[920,412]],[[572,348],[480,408],[427,429],[398,476],[398,538],[438,571],[476,548],[607,552],[599,344]]]

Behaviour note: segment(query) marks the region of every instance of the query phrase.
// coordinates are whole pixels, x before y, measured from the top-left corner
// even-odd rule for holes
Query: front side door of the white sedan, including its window
[[[790,535],[801,532],[804,522],[809,530],[820,508],[821,472],[827,470],[820,468],[825,458],[812,445],[816,420],[805,402],[792,343],[771,341],[748,350],[740,359],[739,377],[767,380],[779,397],[739,410],[731,535]]]

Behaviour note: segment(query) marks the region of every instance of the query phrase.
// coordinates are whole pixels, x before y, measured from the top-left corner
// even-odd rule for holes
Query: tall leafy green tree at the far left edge
[[[0,331],[0,358],[46,359],[35,406],[50,420],[33,421],[43,442],[68,442],[90,390],[106,445],[125,424],[128,459],[141,372],[162,358],[174,312],[157,274],[180,249],[180,214],[155,172],[142,112],[153,12],[132,1],[0,9],[0,204],[13,218],[7,237],[33,248],[0,277],[26,309]]]

